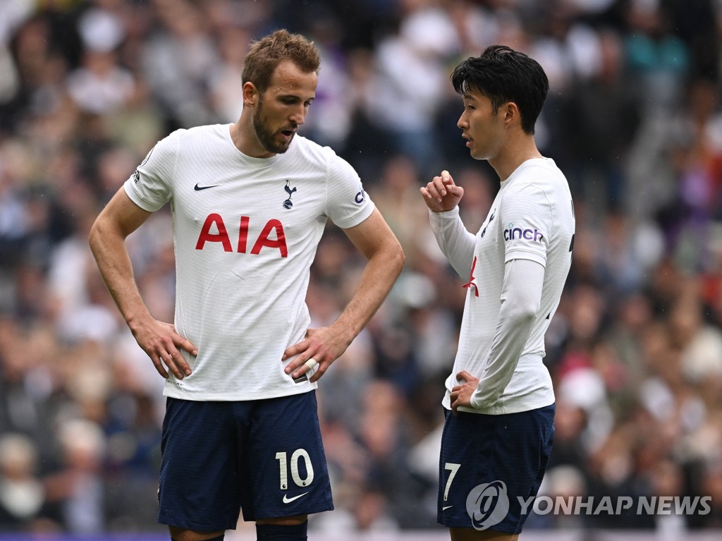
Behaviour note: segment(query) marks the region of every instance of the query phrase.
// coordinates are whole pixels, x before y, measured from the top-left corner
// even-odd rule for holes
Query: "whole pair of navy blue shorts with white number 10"
[[[248,402],[168,398],[158,522],[210,532],[334,508],[316,391]]]

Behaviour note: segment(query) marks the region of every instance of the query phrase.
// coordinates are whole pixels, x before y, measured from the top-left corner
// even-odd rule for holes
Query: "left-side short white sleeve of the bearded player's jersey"
[[[123,185],[131,200],[155,212],[173,196],[173,173],[178,150],[178,131],[157,142]]]

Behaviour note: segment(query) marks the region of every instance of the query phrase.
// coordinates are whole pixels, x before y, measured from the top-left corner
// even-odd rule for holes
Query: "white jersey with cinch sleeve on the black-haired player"
[[[444,224],[443,222],[446,222]],[[513,259],[529,259],[544,267],[541,308],[531,326],[529,339],[521,350],[516,367],[503,393],[483,409],[460,407],[461,411],[500,414],[533,410],[554,402],[552,379],[544,358],[544,333],[559,306],[562,289],[571,266],[575,230],[574,209],[569,185],[553,160],[527,160],[505,181],[475,238],[464,231],[458,207],[432,215],[432,227],[440,246],[450,241],[443,231],[456,231],[458,250],[455,268],[461,273],[461,259],[469,272],[464,317],[453,371],[446,380],[444,407],[451,409],[449,394],[458,385],[456,375],[466,370],[481,377],[489,363],[492,340],[500,331],[499,314],[505,277],[505,264]],[[447,237],[448,237],[447,234]],[[461,241],[458,238],[463,237]],[[466,251],[468,246],[468,252]],[[472,253],[473,249],[473,253]],[[449,249],[445,253],[450,253]],[[471,261],[466,260],[471,258]],[[513,294],[513,292],[511,293]],[[479,383],[483,386],[483,380]]]

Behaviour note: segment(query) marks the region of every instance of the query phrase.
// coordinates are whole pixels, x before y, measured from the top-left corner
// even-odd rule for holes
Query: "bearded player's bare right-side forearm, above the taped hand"
[[[396,238],[390,238],[386,246],[369,257],[355,295],[336,320],[349,344],[381,306],[403,268],[404,252]]]

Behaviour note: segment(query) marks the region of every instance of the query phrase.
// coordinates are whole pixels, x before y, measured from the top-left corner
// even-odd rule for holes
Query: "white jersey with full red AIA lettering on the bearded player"
[[[305,295],[327,219],[350,228],[373,212],[355,170],[298,135],[283,154],[246,156],[223,124],[174,131],[124,187],[142,209],[170,202],[173,214],[175,329],[198,356],[183,352],[193,373],[170,374],[163,394],[253,400],[316,388],[295,383],[281,358],[310,323]]]

